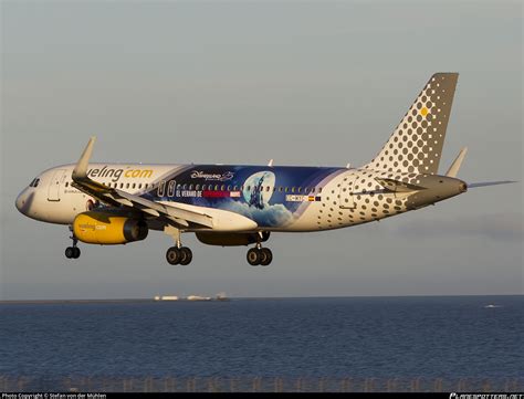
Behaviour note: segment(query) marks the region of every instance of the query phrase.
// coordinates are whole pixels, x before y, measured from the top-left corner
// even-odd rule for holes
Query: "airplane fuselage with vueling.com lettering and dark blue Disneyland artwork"
[[[74,164],[42,172],[17,207],[36,220],[72,224],[98,201],[72,186]],[[90,164],[94,181],[147,200],[210,213],[231,212],[253,223],[217,225],[214,231],[318,231],[380,220],[459,195],[462,181],[444,176],[336,167]],[[444,192],[413,201],[415,193],[386,189],[377,179],[412,185],[446,180]],[[427,190],[427,189],[426,189]],[[439,198],[438,198],[439,197]],[[410,200],[411,198],[411,200]],[[157,223],[151,229],[160,230]],[[188,227],[185,231],[207,230]]]

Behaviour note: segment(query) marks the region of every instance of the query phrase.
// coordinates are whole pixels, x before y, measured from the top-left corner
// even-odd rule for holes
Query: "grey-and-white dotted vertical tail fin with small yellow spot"
[[[366,169],[436,175],[458,73],[436,73]]]

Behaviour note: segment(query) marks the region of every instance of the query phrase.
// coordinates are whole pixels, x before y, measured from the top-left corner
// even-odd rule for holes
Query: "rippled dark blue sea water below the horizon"
[[[0,375],[522,377],[523,326],[524,296],[1,304]]]

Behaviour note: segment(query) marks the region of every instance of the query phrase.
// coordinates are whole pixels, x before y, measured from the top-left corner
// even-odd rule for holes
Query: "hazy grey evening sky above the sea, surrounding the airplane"
[[[0,300],[155,295],[523,294],[521,2],[1,1]],[[23,217],[41,171],[93,161],[353,166],[376,155],[434,72],[459,72],[440,164],[518,180],[378,223],[247,248],[182,237],[81,244]]]

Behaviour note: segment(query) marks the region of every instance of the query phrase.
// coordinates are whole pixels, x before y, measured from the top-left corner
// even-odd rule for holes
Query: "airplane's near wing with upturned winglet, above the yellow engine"
[[[96,198],[98,201],[115,207],[125,207],[129,210],[146,213],[146,217],[164,217],[179,225],[188,227],[189,223],[196,223],[207,228],[213,228],[213,218],[205,211],[188,210],[176,206],[176,203],[165,206],[150,201],[140,196],[130,195],[116,188],[106,187],[87,176],[87,167],[93,153],[95,137],[90,139],[87,146],[82,153],[78,162],[73,170],[72,186],[76,189]]]

